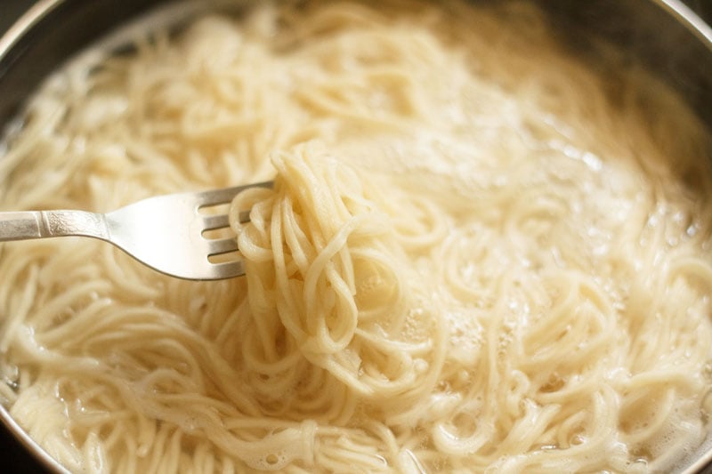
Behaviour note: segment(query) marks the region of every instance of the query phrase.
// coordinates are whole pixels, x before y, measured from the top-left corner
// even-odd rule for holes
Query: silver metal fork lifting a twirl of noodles
[[[45,237],[93,237],[116,245],[150,268],[189,280],[218,280],[245,274],[242,261],[211,261],[234,253],[237,238],[210,238],[211,230],[230,226],[227,213],[200,211],[227,205],[239,192],[255,187],[271,188],[271,181],[149,197],[110,213],[85,211],[21,211],[0,213],[0,242]],[[248,221],[243,212],[240,221]],[[207,235],[206,235],[207,234]],[[215,232],[219,234],[219,232]],[[217,260],[217,259],[213,259]]]

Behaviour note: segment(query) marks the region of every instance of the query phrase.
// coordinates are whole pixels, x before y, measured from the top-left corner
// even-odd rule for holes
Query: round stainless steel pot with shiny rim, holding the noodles
[[[20,1],[20,0],[18,0]],[[236,0],[239,1],[239,0]],[[473,0],[483,3],[487,0]],[[510,0],[492,0],[510,1]],[[551,16],[555,32],[577,54],[595,67],[591,36],[618,44],[631,58],[682,94],[712,133],[712,28],[679,0],[531,0]],[[688,0],[712,15],[707,0]],[[31,4],[29,0],[21,3]],[[0,129],[15,116],[42,79],[73,53],[91,44],[111,28],[148,12],[168,0],[39,0],[0,37]],[[10,2],[12,6],[12,0]],[[707,6],[705,6],[707,5]],[[3,8],[7,4],[3,4]],[[17,6],[15,6],[17,8]],[[705,10],[706,9],[706,10]],[[4,15],[10,14],[5,10]],[[2,28],[2,25],[0,25]],[[1,157],[0,157],[1,158]],[[8,449],[23,471],[65,472],[44,453],[0,406],[0,421]],[[712,473],[712,439],[692,456],[683,472]],[[11,465],[11,468],[12,466]]]

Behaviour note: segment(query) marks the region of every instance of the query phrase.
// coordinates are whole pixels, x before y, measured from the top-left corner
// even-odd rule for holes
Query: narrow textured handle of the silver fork
[[[0,213],[0,242],[64,236],[109,239],[104,214],[85,211]]]

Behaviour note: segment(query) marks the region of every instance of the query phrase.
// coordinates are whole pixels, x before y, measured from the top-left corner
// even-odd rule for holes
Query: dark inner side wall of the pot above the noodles
[[[166,1],[58,0],[49,12],[28,25],[9,49],[0,51],[0,130],[42,79],[74,52],[110,28]],[[586,55],[592,67],[599,67],[600,59],[588,41],[589,35],[619,44],[629,57],[642,60],[681,92],[712,133],[712,44],[700,41],[660,4],[653,0],[532,1],[550,14],[563,44]],[[35,470],[31,463],[24,467]]]

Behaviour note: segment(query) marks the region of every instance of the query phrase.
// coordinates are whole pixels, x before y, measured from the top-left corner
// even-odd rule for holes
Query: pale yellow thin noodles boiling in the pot
[[[0,395],[69,470],[649,472],[708,438],[712,142],[637,66],[519,3],[134,41],[37,92],[0,209],[274,187],[231,203],[242,278],[0,244]]]

